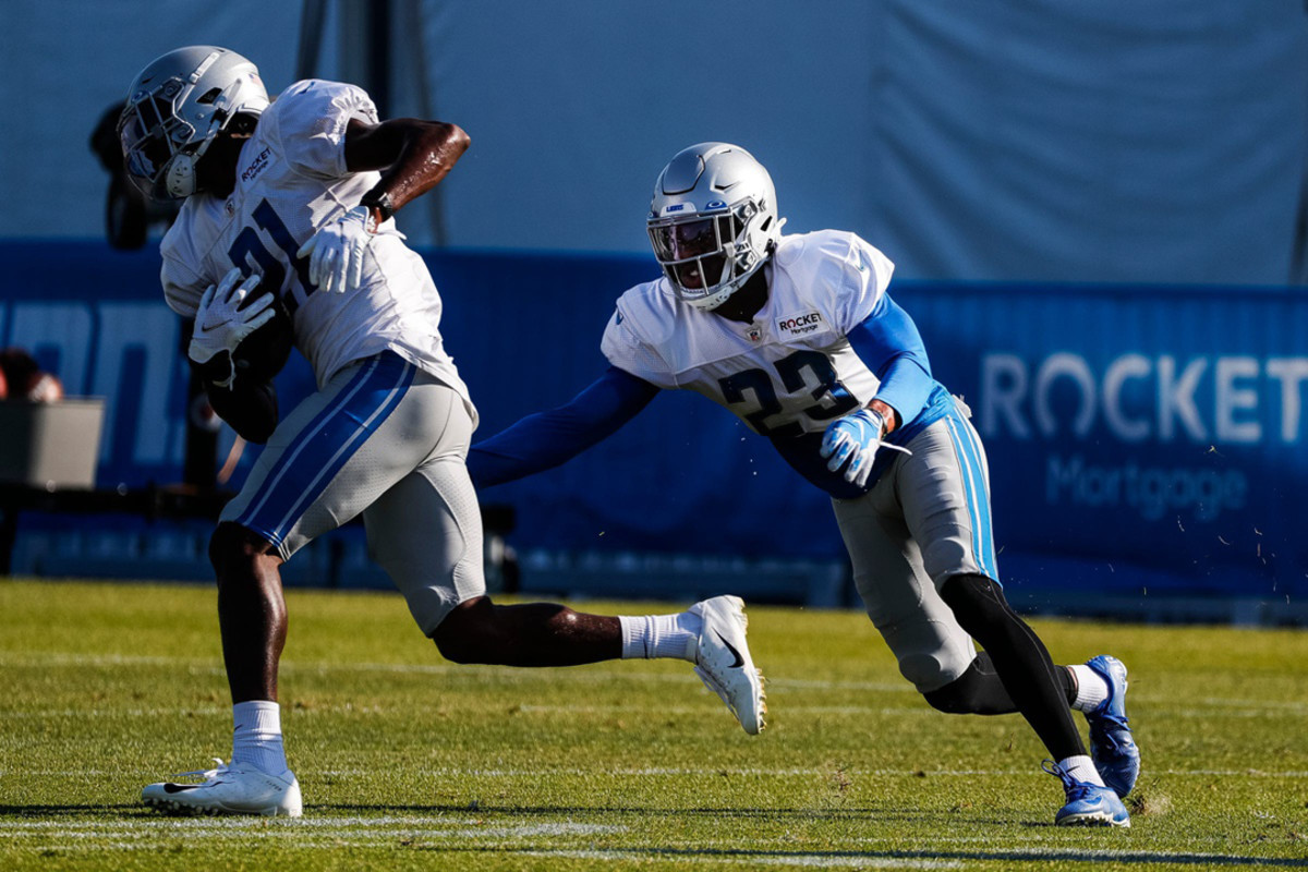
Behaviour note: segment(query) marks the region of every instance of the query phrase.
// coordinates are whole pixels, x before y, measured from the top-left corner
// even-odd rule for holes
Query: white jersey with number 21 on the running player
[[[241,150],[235,190],[226,200],[192,196],[164,237],[164,294],[194,318],[204,289],[232,267],[263,276],[292,312],[296,348],[319,388],[353,361],[392,350],[463,397],[468,390],[441,340],[441,295],[422,259],[387,221],[369,246],[362,286],[348,294],[309,284],[309,259],[296,252],[314,233],[381,178],[345,169],[345,128],[377,124],[368,94],[341,82],[307,80],[279,95]]]

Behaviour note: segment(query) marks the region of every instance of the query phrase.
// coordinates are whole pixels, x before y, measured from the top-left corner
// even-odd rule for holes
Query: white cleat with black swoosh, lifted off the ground
[[[691,607],[704,620],[695,651],[695,673],[718,694],[751,736],[764,727],[768,713],[763,673],[753,668],[744,630],[749,620],[739,596],[714,596]]]

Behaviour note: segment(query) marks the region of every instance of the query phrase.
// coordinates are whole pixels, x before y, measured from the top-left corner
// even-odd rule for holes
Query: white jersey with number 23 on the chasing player
[[[772,438],[823,431],[880,387],[846,333],[886,293],[895,265],[853,233],[782,237],[768,302],[753,323],[718,318],[676,298],[667,278],[617,301],[600,344],[613,366],[662,388],[725,405]]]

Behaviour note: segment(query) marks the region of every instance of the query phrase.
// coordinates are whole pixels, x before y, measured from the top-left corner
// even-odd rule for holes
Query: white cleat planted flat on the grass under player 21
[[[141,801],[161,812],[175,814],[263,814],[266,817],[300,817],[300,782],[289,769],[269,775],[246,763],[225,766],[215,758],[216,769],[182,773],[175,778],[198,775],[199,784],[161,782],[141,791]]]

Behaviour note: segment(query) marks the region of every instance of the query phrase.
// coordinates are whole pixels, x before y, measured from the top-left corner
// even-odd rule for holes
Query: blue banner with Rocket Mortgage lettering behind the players
[[[0,344],[34,350],[69,394],[109,400],[99,484],[177,480],[186,367],[157,254],[5,242],[0,258]],[[654,272],[637,256],[439,251],[428,261],[483,435],[595,378],[613,299]],[[973,409],[1006,578],[1304,592],[1301,295],[903,281],[892,294],[937,377]],[[298,357],[279,387],[284,408],[311,390]],[[693,395],[666,394],[589,454],[484,497],[517,506],[514,541],[526,548],[842,554],[827,498]]]

